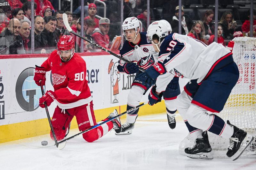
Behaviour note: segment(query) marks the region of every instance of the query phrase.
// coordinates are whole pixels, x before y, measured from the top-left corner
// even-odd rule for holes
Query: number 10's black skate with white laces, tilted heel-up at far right
[[[236,160],[249,146],[254,137],[252,135],[247,135],[247,133],[244,130],[239,129],[236,126],[230,124],[229,121],[227,121],[227,123],[234,128],[234,133],[229,138],[227,156],[232,160]]]

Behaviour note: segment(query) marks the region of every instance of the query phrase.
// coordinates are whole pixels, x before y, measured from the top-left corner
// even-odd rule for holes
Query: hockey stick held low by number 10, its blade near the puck
[[[124,115],[124,114],[126,114],[126,113],[130,113],[130,112],[132,112],[133,110],[135,110],[135,109],[137,109],[137,108],[139,108],[139,107],[141,107],[141,106],[144,106],[144,105],[146,105],[146,104],[148,104],[148,101],[146,101],[146,102],[140,104],[139,106],[133,107],[133,108],[131,108],[131,109],[125,111],[124,113],[121,113],[120,115],[117,115],[117,116],[115,116],[115,117],[112,117],[111,119],[108,119],[108,120],[106,120],[106,121],[104,121],[104,122],[101,122],[100,124],[97,124],[97,125],[95,125],[95,126],[92,126],[92,127],[89,128],[89,129],[86,129],[86,130],[84,130],[84,131],[82,131],[82,132],[79,132],[79,133],[77,133],[77,134],[74,135],[74,136],[68,137],[67,139],[64,139],[64,140],[58,142],[58,144],[61,144],[61,143],[65,143],[65,144],[66,144],[67,140],[72,139],[72,138],[74,138],[74,137],[76,137],[76,136],[78,136],[78,135],[81,135],[81,134],[85,133],[85,132],[88,132],[88,131],[90,131],[90,130],[92,130],[92,129],[95,129],[95,128],[99,127],[100,125],[104,124],[104,123],[110,122],[110,121],[112,121],[112,120],[114,120],[114,119],[116,119],[116,118],[118,118],[118,117],[120,117],[120,116],[122,116],[122,115]],[[57,145],[57,144],[55,144],[55,145]]]

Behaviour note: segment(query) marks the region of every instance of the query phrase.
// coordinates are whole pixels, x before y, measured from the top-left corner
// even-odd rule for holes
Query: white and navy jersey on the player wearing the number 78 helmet
[[[141,68],[147,69],[155,62],[157,62],[158,54],[155,52],[151,42],[147,42],[146,33],[140,33],[140,41],[138,44],[125,41],[123,46],[120,48],[120,56],[124,59],[137,63]],[[120,60],[119,65],[123,66],[124,61]],[[119,70],[123,72],[122,70]]]

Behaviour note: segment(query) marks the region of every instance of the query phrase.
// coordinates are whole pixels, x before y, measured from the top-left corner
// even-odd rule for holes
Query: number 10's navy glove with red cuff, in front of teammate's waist
[[[155,63],[153,66],[150,66],[145,72],[141,73],[138,76],[138,80],[142,82],[146,87],[150,87],[156,83],[156,78],[160,74],[166,73],[163,63]]]

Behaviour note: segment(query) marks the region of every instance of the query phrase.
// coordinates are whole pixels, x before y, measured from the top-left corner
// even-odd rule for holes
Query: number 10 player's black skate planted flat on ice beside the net
[[[197,138],[194,146],[185,148],[185,153],[188,158],[194,159],[213,159],[212,147],[208,140],[207,131],[202,133],[203,138]]]

